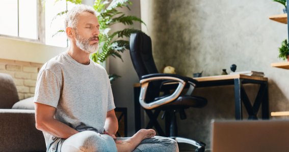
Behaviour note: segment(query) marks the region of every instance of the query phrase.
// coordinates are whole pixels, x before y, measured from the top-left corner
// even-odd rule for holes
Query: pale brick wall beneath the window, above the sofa
[[[37,74],[43,64],[0,59],[0,73],[10,74],[19,99],[34,96]]]

